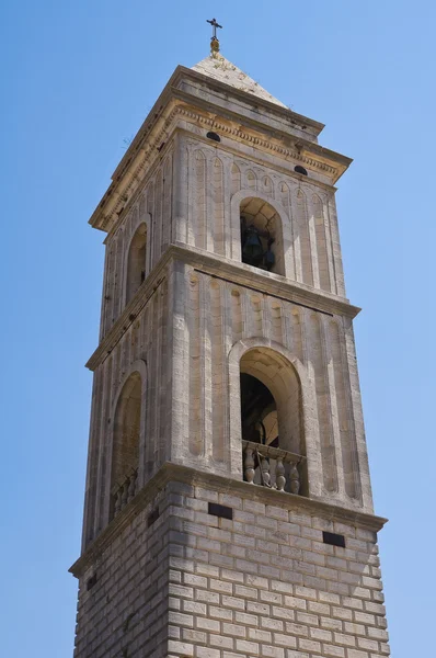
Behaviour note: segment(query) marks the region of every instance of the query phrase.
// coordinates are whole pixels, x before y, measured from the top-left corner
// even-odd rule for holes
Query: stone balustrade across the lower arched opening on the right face
[[[278,491],[300,492],[299,464],[306,458],[287,450],[242,441],[244,480]]]

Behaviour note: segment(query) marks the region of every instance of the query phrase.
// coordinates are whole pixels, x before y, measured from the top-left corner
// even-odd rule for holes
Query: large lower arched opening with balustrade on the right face
[[[301,385],[292,364],[271,348],[240,361],[244,478],[307,495]]]

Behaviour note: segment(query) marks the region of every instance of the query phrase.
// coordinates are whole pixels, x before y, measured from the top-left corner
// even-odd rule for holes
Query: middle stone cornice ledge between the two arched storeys
[[[87,362],[89,370],[94,371],[112,352],[126,329],[135,321],[167,276],[167,268],[172,261],[182,261],[192,266],[193,270],[227,281],[230,284],[252,288],[256,293],[264,293],[330,316],[340,315],[353,319],[362,310],[358,306],[349,304],[348,299],[344,297],[315,291],[303,283],[297,283],[279,274],[259,270],[225,257],[215,257],[210,252],[198,248],[175,243],[169,247],[154,270],[139,287],[135,297],[101,340]]]

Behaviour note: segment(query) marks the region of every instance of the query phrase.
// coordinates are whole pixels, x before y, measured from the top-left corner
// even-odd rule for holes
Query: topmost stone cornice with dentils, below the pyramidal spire
[[[230,98],[237,102],[231,103]],[[190,116],[205,126],[219,125],[220,120],[230,121],[238,126],[231,131],[233,137],[328,172],[332,184],[353,161],[318,144],[323,124],[179,66],[115,169],[111,184],[89,219],[93,228],[104,231],[113,228],[146,172],[161,157],[162,145],[176,131],[179,122]],[[311,129],[311,134],[303,127]],[[271,140],[265,139],[265,135]]]

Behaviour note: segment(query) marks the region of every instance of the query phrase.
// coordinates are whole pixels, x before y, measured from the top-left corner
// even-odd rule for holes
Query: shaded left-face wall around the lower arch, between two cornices
[[[169,458],[172,377],[168,355],[172,331],[169,304],[168,277],[164,275],[142,310],[94,372],[83,546],[108,522],[115,410],[125,382],[135,372],[139,372],[142,387],[138,487]]]

